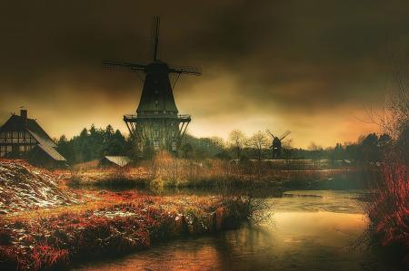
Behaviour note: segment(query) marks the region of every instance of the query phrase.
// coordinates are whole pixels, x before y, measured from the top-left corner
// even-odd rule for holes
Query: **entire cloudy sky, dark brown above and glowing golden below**
[[[146,63],[153,15],[159,57],[203,68],[175,88],[199,137],[356,140],[375,129],[358,119],[390,88],[390,52],[409,44],[408,1],[3,1],[0,122],[25,106],[53,137],[93,123],[126,131],[142,83],[101,61]]]

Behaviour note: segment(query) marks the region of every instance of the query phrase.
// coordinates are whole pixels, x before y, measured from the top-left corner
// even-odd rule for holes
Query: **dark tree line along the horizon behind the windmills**
[[[356,142],[336,143],[334,147],[323,148],[312,142],[307,149],[294,148],[292,140],[283,141],[283,150],[278,159],[283,160],[382,160],[384,150],[391,143],[387,134],[370,133]],[[105,155],[128,156],[137,160],[132,138],[125,137],[111,125],[96,128],[92,125],[79,135],[68,140],[65,135],[56,140],[57,150],[70,163],[100,160]],[[222,160],[265,160],[272,159],[272,138],[264,131],[257,131],[247,137],[243,131],[231,131],[227,140],[219,137],[196,138],[186,134],[177,156],[185,159]],[[148,158],[149,159],[149,158]]]

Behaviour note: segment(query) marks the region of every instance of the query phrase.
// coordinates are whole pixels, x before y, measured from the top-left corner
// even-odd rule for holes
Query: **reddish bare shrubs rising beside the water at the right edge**
[[[383,148],[382,181],[376,182],[366,205],[374,240],[383,246],[400,244],[409,239],[409,59],[393,61],[394,85],[387,92],[380,111],[367,109],[370,123],[377,124],[386,137]],[[406,259],[407,259],[406,255]]]

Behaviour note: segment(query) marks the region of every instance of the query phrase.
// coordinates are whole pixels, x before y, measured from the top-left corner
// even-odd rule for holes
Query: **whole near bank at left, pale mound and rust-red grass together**
[[[240,196],[145,196],[69,189],[58,172],[0,161],[0,269],[67,269],[184,235],[238,226],[252,212]]]

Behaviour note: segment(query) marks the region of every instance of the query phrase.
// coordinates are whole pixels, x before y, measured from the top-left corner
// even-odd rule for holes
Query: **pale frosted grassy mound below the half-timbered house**
[[[49,171],[22,160],[0,160],[0,214],[76,202],[73,193],[58,188]]]

